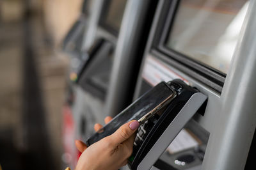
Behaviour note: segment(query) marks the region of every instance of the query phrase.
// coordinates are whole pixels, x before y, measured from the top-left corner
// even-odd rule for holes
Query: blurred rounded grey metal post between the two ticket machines
[[[115,50],[113,69],[106,100],[106,114],[115,115],[124,108],[125,97],[129,95],[132,66],[136,62],[134,52],[139,42],[141,24],[145,20],[148,0],[127,1],[122,26]]]

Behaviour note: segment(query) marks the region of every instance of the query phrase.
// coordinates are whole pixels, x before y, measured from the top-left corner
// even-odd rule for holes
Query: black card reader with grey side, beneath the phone
[[[138,128],[128,162],[131,169],[150,169],[207,100],[204,94],[179,79],[168,82],[168,85],[176,97],[160,116],[156,114]]]

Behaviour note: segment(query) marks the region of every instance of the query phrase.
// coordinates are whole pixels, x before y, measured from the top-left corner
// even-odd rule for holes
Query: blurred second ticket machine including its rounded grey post
[[[104,123],[106,116],[115,116],[118,109],[127,106],[128,98],[131,102],[133,92],[127,93],[126,89],[134,91],[134,76],[138,75],[142,58],[139,54],[150,31],[146,26],[152,24],[157,5],[156,1],[147,0],[102,2],[95,41],[86,50],[89,59],[77,72],[77,79],[72,80],[77,87],[74,112],[81,131],[78,136],[84,140],[94,133],[94,123]],[[117,102],[116,96],[121,98]]]

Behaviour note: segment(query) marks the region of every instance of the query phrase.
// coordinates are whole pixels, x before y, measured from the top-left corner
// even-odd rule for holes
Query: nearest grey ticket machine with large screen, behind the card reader
[[[256,124],[255,94],[239,98],[255,91],[255,81],[244,79],[255,72],[246,51],[255,57],[255,8],[255,2],[237,0],[159,1],[134,100],[161,81],[182,79],[208,101],[204,114],[195,114],[156,162],[147,160],[151,169],[244,168]]]

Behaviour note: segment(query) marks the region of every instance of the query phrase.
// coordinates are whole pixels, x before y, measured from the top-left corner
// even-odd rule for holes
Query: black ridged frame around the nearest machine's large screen
[[[156,33],[152,44],[152,50],[156,56],[166,57],[170,64],[175,68],[178,68],[182,72],[195,78],[196,80],[203,82],[205,85],[214,89],[218,93],[221,93],[226,74],[205,65],[200,61],[189,58],[188,56],[181,54],[175,50],[166,47],[166,40],[173,26],[175,14],[179,8],[179,0],[164,1],[163,10],[157,23]]]

